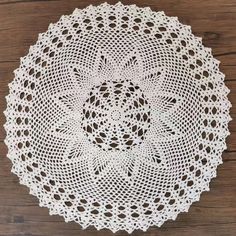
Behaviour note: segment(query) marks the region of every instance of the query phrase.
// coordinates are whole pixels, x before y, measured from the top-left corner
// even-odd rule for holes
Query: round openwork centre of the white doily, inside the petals
[[[125,151],[142,143],[150,127],[150,106],[131,81],[106,81],[91,89],[82,126],[88,139],[103,150]]]

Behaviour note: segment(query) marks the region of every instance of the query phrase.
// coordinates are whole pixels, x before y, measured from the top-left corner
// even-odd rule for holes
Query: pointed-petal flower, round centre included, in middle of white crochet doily
[[[143,161],[158,166],[164,160],[158,142],[181,135],[171,122],[181,99],[163,92],[164,68],[143,72],[140,63],[136,52],[128,54],[119,65],[99,53],[94,70],[72,65],[76,87],[53,96],[65,116],[50,132],[71,140],[66,155],[72,160],[86,156],[80,151],[82,146],[93,144],[95,178],[116,168],[131,180],[140,162],[137,156],[145,156]],[[155,105],[151,107],[149,101]]]

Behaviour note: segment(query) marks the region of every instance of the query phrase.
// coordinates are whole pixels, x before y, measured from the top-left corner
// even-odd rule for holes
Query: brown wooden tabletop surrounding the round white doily
[[[38,33],[47,30],[63,14],[74,8],[102,1],[60,0],[0,0],[0,236],[108,236],[108,230],[94,228],[82,230],[76,223],[65,223],[62,217],[49,216],[46,208],[18,183],[11,174],[11,163],[6,158],[3,143],[5,132],[2,111],[6,107],[4,96],[7,84],[13,79],[12,71],[19,66],[19,58],[27,54],[36,42]],[[116,1],[108,1],[116,3]],[[150,6],[164,10],[169,16],[178,16],[182,23],[192,26],[193,32],[203,38],[203,43],[213,49],[226,74],[226,84],[231,89],[231,135],[227,139],[224,163],[218,176],[201,200],[194,203],[188,213],[176,221],[166,222],[161,228],[152,227],[147,232],[135,231],[133,235],[148,236],[234,236],[236,235],[236,0],[134,0],[124,4]],[[116,235],[127,235],[118,232]]]

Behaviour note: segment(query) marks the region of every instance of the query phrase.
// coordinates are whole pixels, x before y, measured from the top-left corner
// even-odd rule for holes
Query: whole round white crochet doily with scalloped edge
[[[176,17],[76,9],[40,34],[9,84],[12,171],[83,228],[146,230],[188,211],[222,163],[229,90]]]

